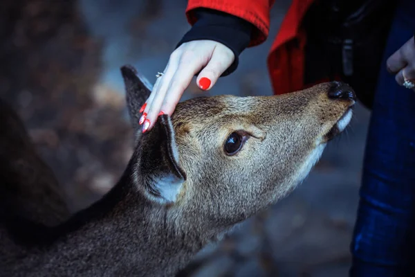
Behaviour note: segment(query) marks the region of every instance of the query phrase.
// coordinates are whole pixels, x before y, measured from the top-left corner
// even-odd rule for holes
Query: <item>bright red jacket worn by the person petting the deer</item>
[[[306,34],[301,26],[306,11],[314,0],[293,0],[268,54],[268,71],[275,94],[304,88],[304,46]],[[196,22],[195,8],[211,8],[241,17],[256,29],[249,46],[256,46],[268,37],[270,9],[274,0],[189,0],[186,9],[190,24]]]

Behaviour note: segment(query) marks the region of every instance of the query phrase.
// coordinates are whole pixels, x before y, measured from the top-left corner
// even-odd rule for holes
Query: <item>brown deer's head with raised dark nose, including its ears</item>
[[[139,99],[129,105],[137,122],[151,88],[130,66],[122,74],[127,99]],[[178,103],[136,145],[138,188],[178,214],[228,228],[293,190],[348,125],[354,102],[351,87],[328,82],[283,96]]]

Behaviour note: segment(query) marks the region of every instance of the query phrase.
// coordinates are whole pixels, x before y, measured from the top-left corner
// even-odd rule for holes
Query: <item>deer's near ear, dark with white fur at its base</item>
[[[186,174],[180,166],[174,128],[162,115],[141,140],[140,172],[145,177],[147,195],[158,202],[175,202]]]

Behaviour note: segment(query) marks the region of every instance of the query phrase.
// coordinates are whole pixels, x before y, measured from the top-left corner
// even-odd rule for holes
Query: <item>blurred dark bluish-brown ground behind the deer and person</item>
[[[290,1],[276,1],[270,37],[203,92],[271,95],[266,56]],[[2,0],[0,97],[19,112],[72,211],[116,184],[132,152],[120,66],[154,82],[190,26],[185,0]],[[179,276],[347,276],[369,111],[282,202],[209,245]]]

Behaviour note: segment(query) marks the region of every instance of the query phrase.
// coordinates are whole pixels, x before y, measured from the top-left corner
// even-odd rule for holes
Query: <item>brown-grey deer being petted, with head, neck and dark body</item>
[[[152,85],[131,65],[120,71],[133,154],[117,184],[73,215],[46,164],[33,164],[39,158],[23,123],[1,102],[0,159],[9,166],[1,169],[0,276],[174,276],[302,183],[356,102],[337,81],[279,96],[199,96],[143,134],[139,110]],[[10,140],[35,157],[26,160],[31,175],[13,167]],[[42,189],[49,204],[30,193]]]

